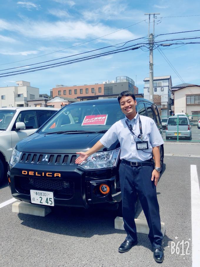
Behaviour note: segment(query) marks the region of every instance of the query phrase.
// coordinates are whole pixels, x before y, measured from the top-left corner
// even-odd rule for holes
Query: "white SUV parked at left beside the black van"
[[[16,143],[33,134],[57,110],[47,107],[0,108],[0,183]]]

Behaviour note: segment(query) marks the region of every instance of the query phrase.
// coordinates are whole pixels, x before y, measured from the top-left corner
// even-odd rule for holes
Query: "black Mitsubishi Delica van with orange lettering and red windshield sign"
[[[156,105],[142,98],[136,101],[139,115],[151,117],[162,134]],[[87,151],[111,125],[123,118],[116,98],[63,107],[34,134],[17,143],[8,172],[13,197],[49,206],[89,208],[99,203],[120,204],[118,140],[80,165],[75,160],[79,156],[76,152]],[[162,170],[163,145],[160,154]]]

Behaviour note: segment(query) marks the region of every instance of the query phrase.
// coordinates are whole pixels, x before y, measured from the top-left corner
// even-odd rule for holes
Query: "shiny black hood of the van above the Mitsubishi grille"
[[[31,153],[71,153],[87,151],[103,136],[102,133],[91,134],[52,134],[41,135],[34,133],[16,145],[16,150]],[[109,150],[119,147],[116,141]],[[103,150],[102,148],[101,150]]]

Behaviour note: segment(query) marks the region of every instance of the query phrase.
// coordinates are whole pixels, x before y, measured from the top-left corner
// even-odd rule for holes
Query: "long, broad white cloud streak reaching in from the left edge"
[[[3,21],[4,22],[4,21]],[[105,26],[101,23],[90,24],[86,21],[31,21],[26,20],[23,23],[7,23],[4,22],[4,29],[16,31],[26,37],[38,39],[59,39],[61,41],[79,40],[79,39],[93,39],[110,34],[117,31],[116,28]],[[0,24],[1,25],[1,24]],[[107,35],[101,39],[106,40],[130,40],[135,39],[137,36],[132,34],[127,29],[115,32],[114,34]]]

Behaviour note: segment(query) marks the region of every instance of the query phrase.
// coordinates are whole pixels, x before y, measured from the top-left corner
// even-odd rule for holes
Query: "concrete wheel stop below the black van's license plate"
[[[16,201],[12,204],[12,212],[45,217],[51,209],[48,206]]]

